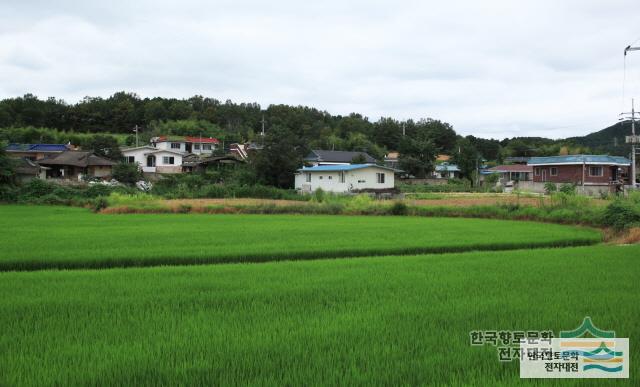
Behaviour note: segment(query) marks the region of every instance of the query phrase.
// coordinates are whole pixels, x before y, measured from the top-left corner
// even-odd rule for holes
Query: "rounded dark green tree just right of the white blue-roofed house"
[[[410,175],[424,179],[433,171],[438,149],[426,136],[403,138],[399,151],[400,168]]]

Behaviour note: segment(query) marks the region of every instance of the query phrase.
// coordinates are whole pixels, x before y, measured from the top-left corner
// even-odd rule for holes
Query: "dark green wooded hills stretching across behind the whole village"
[[[299,153],[310,148],[354,150],[381,159],[389,151],[400,150],[403,127],[408,138],[431,141],[438,152],[454,154],[465,148],[477,151],[487,160],[561,153],[629,153],[624,145],[624,136],[630,133],[628,124],[566,140],[517,137],[499,141],[475,136],[463,138],[448,123],[431,118],[403,122],[382,117],[371,121],[358,113],[332,115],[306,106],[265,108],[257,103],[221,102],[203,96],[141,98],[128,92],[107,98],[85,97],[74,104],[31,94],[1,100],[0,141],[75,143],[80,141],[77,138],[80,133],[108,133],[132,144],[133,128],[138,126],[142,141],[157,134],[201,134],[218,137],[228,144],[258,138],[263,120],[267,133],[295,137]]]

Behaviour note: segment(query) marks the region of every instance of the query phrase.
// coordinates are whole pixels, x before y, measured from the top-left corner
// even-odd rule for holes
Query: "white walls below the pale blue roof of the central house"
[[[308,183],[306,174],[311,174]],[[376,173],[385,174],[384,184],[378,183]],[[368,167],[344,172],[344,183],[340,182],[340,172],[301,172],[295,176],[295,187],[303,192],[312,192],[318,188],[328,192],[349,192],[359,189],[388,189],[395,186],[392,171],[378,167]]]

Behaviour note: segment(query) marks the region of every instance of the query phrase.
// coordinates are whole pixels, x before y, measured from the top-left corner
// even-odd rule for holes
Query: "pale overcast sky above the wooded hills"
[[[638,0],[0,0],[0,98],[200,94],[582,135],[623,109],[639,14]],[[626,78],[640,99],[640,52]]]

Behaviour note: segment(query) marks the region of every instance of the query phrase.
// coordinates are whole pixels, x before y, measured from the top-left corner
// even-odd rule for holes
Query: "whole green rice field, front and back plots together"
[[[597,230],[62,207],[0,206],[0,215],[0,386],[637,385],[640,245],[594,245]],[[540,240],[559,247],[534,248]],[[170,256],[141,254],[151,241],[191,258],[202,250],[189,241],[237,254],[109,268]],[[400,243],[406,250],[390,254],[403,255],[380,256]],[[420,246],[441,254],[407,254]],[[455,249],[464,252],[446,253]],[[243,259],[260,251],[272,262]],[[322,251],[343,255],[305,260]],[[46,269],[32,271],[36,263]],[[631,379],[521,380],[517,361],[470,345],[474,330],[557,334],[585,316],[630,338]]]

